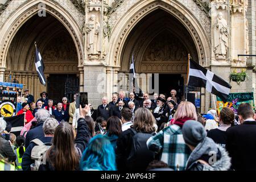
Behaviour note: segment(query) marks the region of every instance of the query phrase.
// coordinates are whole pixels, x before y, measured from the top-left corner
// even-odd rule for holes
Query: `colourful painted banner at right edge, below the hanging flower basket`
[[[237,114],[237,109],[240,104],[249,103],[253,106],[254,110],[254,97],[253,92],[249,93],[230,93],[228,96],[228,100],[224,103],[221,98],[217,97],[217,111],[220,114],[220,111],[223,107],[229,107]]]

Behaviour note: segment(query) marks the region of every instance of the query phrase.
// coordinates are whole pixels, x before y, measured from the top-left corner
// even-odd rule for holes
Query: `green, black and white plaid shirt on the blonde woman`
[[[147,140],[147,147],[153,151],[163,150],[161,159],[168,164],[168,167],[177,170],[185,170],[188,157],[191,154],[190,148],[185,144],[181,128],[171,125],[159,131],[155,136]]]

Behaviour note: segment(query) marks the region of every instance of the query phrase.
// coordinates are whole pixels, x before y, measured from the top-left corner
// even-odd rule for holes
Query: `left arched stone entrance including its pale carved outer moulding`
[[[39,10],[42,10],[39,3],[44,3],[46,16],[38,15]],[[2,81],[11,72],[20,83],[26,85],[25,88],[31,90],[35,98],[39,97],[40,92],[47,90],[48,85],[40,85],[35,71],[34,42],[37,42],[46,67],[46,77],[56,73],[80,77],[77,85],[83,90],[81,27],[63,7],[52,1],[30,1],[6,20],[2,32],[5,33],[0,35]]]

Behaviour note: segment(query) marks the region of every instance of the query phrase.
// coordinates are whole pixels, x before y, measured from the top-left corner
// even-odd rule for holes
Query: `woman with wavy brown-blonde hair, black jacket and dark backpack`
[[[123,131],[117,140],[115,150],[118,171],[146,170],[154,160],[154,152],[147,149],[147,139],[155,134],[154,115],[145,107],[140,107],[134,115],[130,129]],[[134,148],[138,146],[138,148]]]

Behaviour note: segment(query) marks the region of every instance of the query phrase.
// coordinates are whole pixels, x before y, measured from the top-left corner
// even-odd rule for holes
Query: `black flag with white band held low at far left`
[[[24,126],[24,115],[25,114],[19,114],[13,117],[3,118],[6,122],[11,123],[11,133],[15,134],[16,136],[20,135],[20,131]]]

